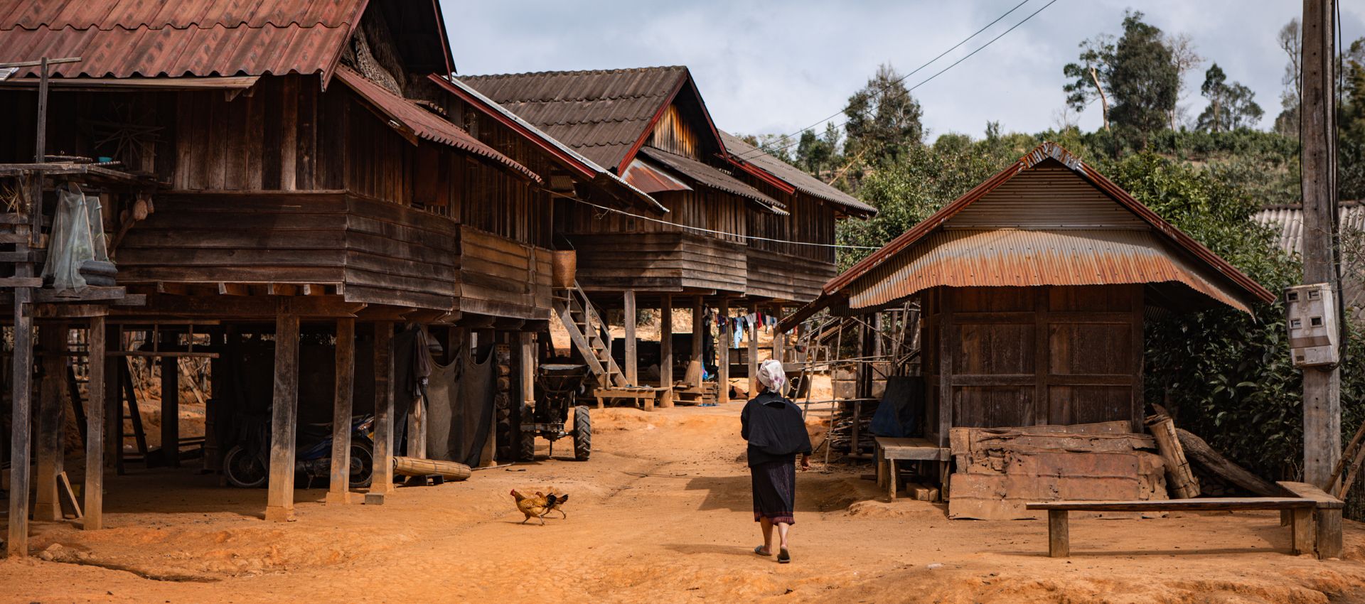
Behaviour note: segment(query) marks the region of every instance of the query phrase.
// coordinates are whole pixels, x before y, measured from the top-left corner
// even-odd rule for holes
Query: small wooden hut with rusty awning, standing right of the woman
[[[784,319],[917,299],[925,447],[960,427],[1125,421],[1143,431],[1149,312],[1275,296],[1065,149],[1044,143],[824,285]],[[925,457],[928,458],[928,457]]]

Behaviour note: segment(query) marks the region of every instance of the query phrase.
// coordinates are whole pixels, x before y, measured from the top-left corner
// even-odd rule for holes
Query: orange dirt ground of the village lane
[[[1044,521],[949,521],[886,503],[867,465],[797,477],[792,564],[751,552],[741,404],[594,410],[588,462],[556,458],[400,488],[379,506],[265,491],[192,469],[108,480],[106,530],[37,522],[34,556],[0,562],[4,603],[1327,603],[1362,601],[1365,530],[1346,559],[1290,556],[1275,514],[1073,519],[1069,559]],[[812,427],[816,432],[819,427]],[[816,440],[818,442],[818,440]],[[818,455],[819,457],[819,455]],[[520,525],[508,491],[558,487],[568,519]],[[3,534],[3,533],[0,533]],[[41,556],[40,556],[41,554]],[[51,559],[51,560],[49,560]]]

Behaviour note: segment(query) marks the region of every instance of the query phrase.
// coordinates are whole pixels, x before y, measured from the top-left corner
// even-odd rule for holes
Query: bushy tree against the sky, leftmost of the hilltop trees
[[[920,104],[889,64],[879,65],[867,86],[849,97],[844,115],[848,117],[844,153],[859,157],[863,165],[894,162],[924,136]]]

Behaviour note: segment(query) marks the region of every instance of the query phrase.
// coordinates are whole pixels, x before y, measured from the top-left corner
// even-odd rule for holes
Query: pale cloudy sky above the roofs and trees
[[[841,112],[878,64],[909,74],[1021,0],[842,1],[689,0],[594,3],[441,0],[459,74],[687,65],[717,127],[789,134]],[[1048,0],[1028,0],[991,29],[905,82],[915,86],[1024,20]],[[1287,57],[1276,40],[1299,16],[1295,0],[1057,0],[1026,23],[915,89],[930,138],[980,138],[987,121],[1006,132],[1062,123],[1062,65],[1077,45],[1121,34],[1123,11],[1168,34],[1189,34],[1205,61],[1186,76],[1181,106],[1205,106],[1204,70],[1256,93],[1269,128],[1280,110]],[[1342,3],[1342,38],[1365,37],[1365,5]],[[841,117],[835,119],[837,121]],[[1100,127],[1092,105],[1069,121]],[[820,127],[823,131],[823,125]]]

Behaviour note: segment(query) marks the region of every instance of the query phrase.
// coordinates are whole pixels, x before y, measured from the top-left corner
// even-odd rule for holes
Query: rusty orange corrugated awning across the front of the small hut
[[[1207,271],[1204,271],[1207,273]],[[874,308],[935,286],[1185,284],[1250,312],[1152,230],[939,230],[867,274],[849,308]]]

